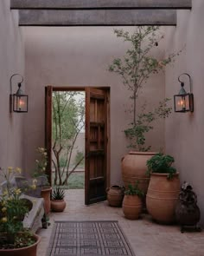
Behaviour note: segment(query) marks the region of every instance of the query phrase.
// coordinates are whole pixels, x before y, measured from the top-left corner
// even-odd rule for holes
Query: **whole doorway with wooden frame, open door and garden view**
[[[110,88],[45,90],[45,145],[52,186],[85,191],[85,204],[106,199],[110,184]]]

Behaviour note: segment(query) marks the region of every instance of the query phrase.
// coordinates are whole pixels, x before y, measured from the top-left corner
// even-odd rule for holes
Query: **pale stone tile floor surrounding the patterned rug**
[[[149,215],[140,220],[126,220],[121,208],[109,207],[107,201],[84,205],[84,190],[68,190],[63,213],[51,213],[48,229],[41,229],[37,256],[46,255],[54,220],[118,220],[136,256],[203,256],[204,232],[181,233],[179,226],[154,223]],[[94,256],[94,255],[93,255]]]

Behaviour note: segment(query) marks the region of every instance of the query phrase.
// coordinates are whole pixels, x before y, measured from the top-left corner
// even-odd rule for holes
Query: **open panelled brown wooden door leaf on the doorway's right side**
[[[108,93],[107,89],[86,88],[86,205],[105,200],[109,185]]]

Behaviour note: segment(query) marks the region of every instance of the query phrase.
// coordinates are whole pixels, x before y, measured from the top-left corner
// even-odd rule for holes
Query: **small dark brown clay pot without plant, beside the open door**
[[[121,207],[124,199],[124,187],[114,185],[106,189],[107,200],[111,207]]]

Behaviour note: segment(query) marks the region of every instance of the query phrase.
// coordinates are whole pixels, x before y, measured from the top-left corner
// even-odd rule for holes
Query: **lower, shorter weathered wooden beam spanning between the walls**
[[[19,10],[20,26],[176,25],[175,10]]]

